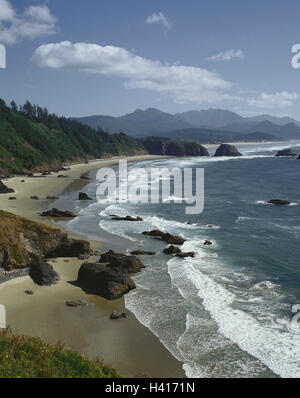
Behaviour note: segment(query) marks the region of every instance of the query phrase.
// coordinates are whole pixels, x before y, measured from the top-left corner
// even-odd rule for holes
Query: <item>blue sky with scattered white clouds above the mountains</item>
[[[68,117],[151,107],[300,120],[299,14],[298,0],[0,0],[0,97]]]

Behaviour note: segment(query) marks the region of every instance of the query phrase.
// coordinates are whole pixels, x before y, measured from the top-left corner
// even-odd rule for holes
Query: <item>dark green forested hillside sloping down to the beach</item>
[[[27,101],[19,109],[0,99],[0,168],[7,171],[55,166],[76,159],[133,155],[142,143],[123,133],[108,134]]]

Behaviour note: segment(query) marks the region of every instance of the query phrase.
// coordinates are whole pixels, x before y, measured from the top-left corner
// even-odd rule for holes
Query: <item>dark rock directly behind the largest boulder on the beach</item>
[[[115,253],[109,250],[107,253],[101,255],[99,263],[108,263],[107,267],[115,269],[118,268],[122,272],[128,274],[135,274],[145,268],[142,261],[136,256],[127,256],[123,253]]]

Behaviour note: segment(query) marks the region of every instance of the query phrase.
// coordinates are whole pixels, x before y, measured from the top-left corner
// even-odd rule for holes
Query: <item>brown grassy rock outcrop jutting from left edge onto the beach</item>
[[[0,268],[26,268],[36,258],[77,257],[90,252],[85,241],[69,239],[59,229],[0,211]]]

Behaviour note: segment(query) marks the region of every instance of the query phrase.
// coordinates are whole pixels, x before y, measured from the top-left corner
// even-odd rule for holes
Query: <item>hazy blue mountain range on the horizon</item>
[[[162,136],[197,139],[199,142],[215,137],[206,142],[219,142],[219,139],[223,141],[227,137],[227,140],[231,137],[245,141],[255,133],[258,140],[300,139],[300,122],[295,119],[272,115],[243,117],[223,109],[194,110],[173,115],[148,108],[119,117],[96,115],[73,119],[93,128],[111,133],[122,131],[133,137]]]

